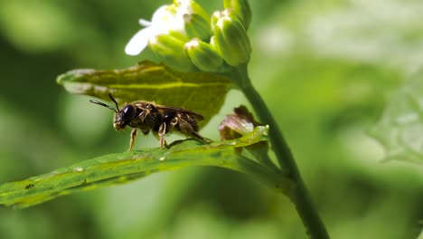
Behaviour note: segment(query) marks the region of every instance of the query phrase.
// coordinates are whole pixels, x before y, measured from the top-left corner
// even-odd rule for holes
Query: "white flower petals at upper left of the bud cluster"
[[[158,34],[168,34],[170,32],[182,33],[186,35],[184,29],[184,14],[193,13],[193,0],[174,1],[173,5],[162,5],[153,14],[151,22],[140,19],[139,24],[145,28],[136,33],[127,46],[125,53],[137,55],[141,53],[148,42]]]

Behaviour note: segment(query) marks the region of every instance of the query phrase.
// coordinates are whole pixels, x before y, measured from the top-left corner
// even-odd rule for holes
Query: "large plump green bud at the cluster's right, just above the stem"
[[[244,26],[236,18],[221,17],[214,27],[214,44],[231,66],[249,61],[251,45]]]

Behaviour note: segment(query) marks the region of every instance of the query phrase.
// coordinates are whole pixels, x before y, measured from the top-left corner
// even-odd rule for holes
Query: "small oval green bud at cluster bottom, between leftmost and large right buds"
[[[221,72],[223,59],[211,44],[193,38],[185,43],[184,49],[193,64],[202,72]]]

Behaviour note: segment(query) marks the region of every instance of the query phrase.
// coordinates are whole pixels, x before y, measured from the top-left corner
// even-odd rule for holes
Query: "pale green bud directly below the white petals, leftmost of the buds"
[[[169,34],[157,34],[148,42],[150,49],[165,65],[178,72],[196,71],[193,62],[183,51],[183,44],[183,41]]]

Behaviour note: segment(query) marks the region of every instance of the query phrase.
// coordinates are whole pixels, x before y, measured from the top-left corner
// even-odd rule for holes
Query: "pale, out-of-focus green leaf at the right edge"
[[[386,160],[423,166],[423,81],[407,81],[392,96],[371,136],[385,147]]]

